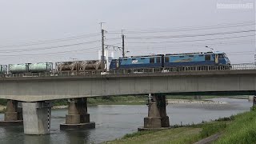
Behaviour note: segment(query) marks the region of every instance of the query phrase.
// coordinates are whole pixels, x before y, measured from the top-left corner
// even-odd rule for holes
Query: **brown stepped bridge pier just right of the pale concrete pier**
[[[70,99],[66,123],[60,125],[61,130],[84,130],[95,128],[87,113],[87,98]]]

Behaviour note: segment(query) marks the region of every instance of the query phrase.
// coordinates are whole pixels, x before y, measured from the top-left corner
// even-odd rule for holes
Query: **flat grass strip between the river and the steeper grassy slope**
[[[194,143],[202,138],[209,137],[219,131],[225,130],[229,122],[209,122],[192,126],[184,126],[161,131],[142,131],[133,134],[126,134],[123,138],[117,139],[108,144],[115,143]],[[150,141],[149,141],[150,140]]]

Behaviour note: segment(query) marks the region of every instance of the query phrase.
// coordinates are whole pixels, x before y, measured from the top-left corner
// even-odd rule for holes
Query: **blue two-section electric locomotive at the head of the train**
[[[149,56],[113,59],[110,70],[143,68],[170,68],[181,66],[228,66],[230,60],[223,52],[190,54],[158,54]]]

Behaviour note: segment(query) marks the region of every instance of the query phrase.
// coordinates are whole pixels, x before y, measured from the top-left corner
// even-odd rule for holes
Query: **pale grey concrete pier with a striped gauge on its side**
[[[22,102],[24,134],[50,134],[51,102]]]

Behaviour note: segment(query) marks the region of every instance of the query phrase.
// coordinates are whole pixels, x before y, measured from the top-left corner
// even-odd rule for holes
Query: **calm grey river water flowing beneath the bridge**
[[[191,124],[229,117],[250,110],[252,102],[245,99],[213,98],[228,104],[180,104],[166,106],[170,124]],[[92,130],[59,130],[65,122],[67,110],[52,110],[51,132],[47,135],[23,134],[22,126],[1,126],[0,143],[5,144],[70,144],[100,143],[121,138],[143,126],[147,116],[147,106],[92,106],[88,108],[90,119],[96,122]],[[4,115],[0,114],[0,119]]]

